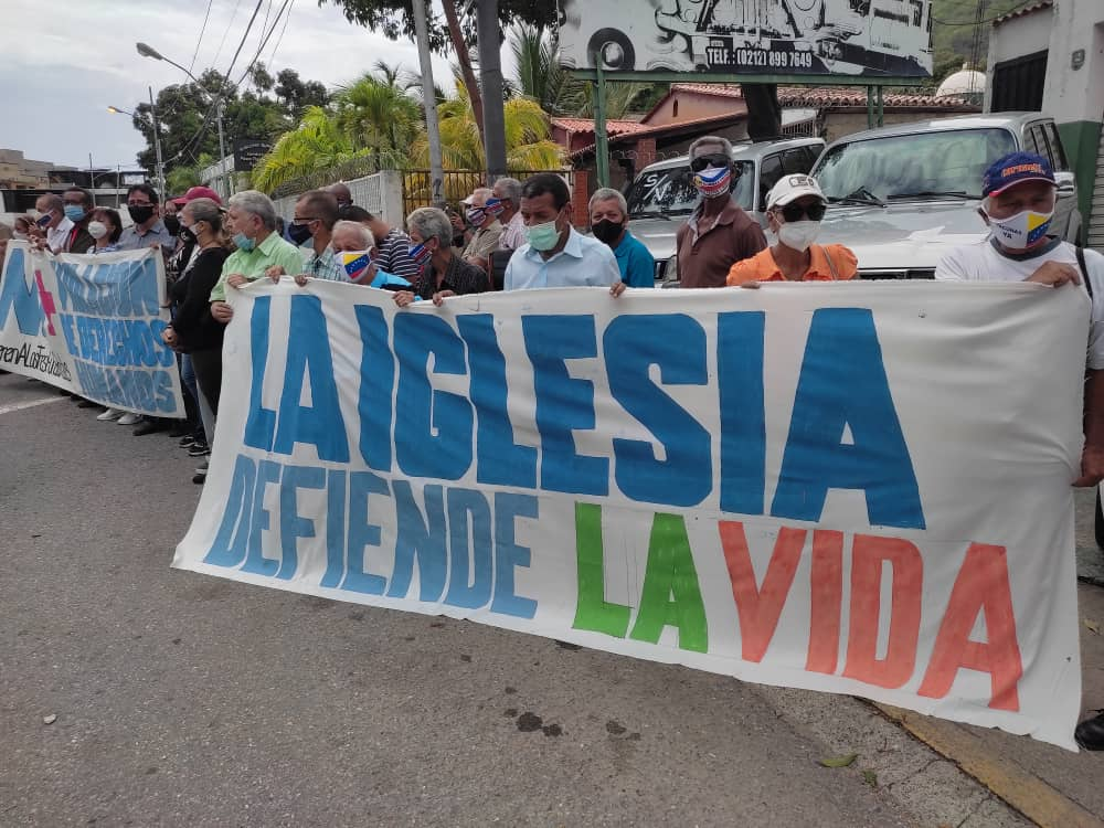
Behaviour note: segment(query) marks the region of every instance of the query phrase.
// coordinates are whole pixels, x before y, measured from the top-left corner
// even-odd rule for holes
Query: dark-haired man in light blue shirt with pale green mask
[[[541,172],[521,188],[528,244],[506,267],[503,288],[612,287],[620,282],[617,259],[597,238],[571,226],[571,193],[554,172]]]

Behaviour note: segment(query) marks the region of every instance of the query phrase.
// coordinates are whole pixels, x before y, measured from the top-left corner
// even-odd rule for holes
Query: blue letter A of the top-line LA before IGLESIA
[[[272,450],[290,455],[296,443],[310,444],[318,449],[320,459],[348,463],[349,438],[333,380],[330,338],[321,299],[294,297],[288,331],[284,391]],[[310,382],[310,405],[300,402],[304,374]]]

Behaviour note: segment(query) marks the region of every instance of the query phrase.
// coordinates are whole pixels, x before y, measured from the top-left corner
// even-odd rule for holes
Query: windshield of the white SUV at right
[[[1005,129],[915,132],[840,144],[825,153],[813,174],[829,201],[979,199],[986,168],[1015,150]]]

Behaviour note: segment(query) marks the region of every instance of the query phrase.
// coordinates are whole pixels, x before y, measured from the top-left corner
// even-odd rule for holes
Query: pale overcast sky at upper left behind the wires
[[[275,17],[282,4],[265,0],[232,79],[257,51],[266,10],[270,6]],[[148,85],[157,95],[162,86],[187,81],[168,63],[140,56],[135,43],[144,41],[189,66],[199,42],[192,73],[225,72],[254,8],[253,0],[212,0],[200,41],[202,0],[0,0],[0,89],[8,103],[0,148],[57,164],[87,167],[91,152],[96,167],[134,167],[144,141],[129,117],[107,107],[134,109],[148,100]],[[319,8],[318,0],[291,0],[290,8],[283,40],[278,28],[262,53],[273,75],[290,67],[331,87],[355,79],[379,59],[418,68],[413,43],[350,24],[332,3]],[[439,86],[452,88],[446,60],[435,57],[433,71]]]

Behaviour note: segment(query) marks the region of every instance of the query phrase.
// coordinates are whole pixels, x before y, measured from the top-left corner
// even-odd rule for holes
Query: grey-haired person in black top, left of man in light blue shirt
[[[453,252],[453,223],[444,210],[418,208],[406,217],[411,237],[411,258],[422,266],[413,290],[395,294],[395,304],[404,308],[416,299],[433,299],[434,305],[449,296],[481,294],[489,289],[487,274]]]

